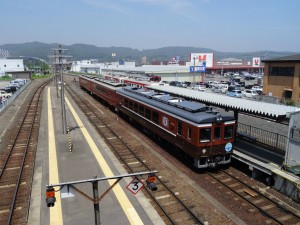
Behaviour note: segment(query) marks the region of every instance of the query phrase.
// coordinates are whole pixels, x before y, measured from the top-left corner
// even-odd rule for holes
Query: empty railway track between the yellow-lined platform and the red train
[[[78,86],[76,87],[78,88]],[[116,153],[123,165],[127,167],[128,171],[131,173],[151,171],[146,162],[136,153],[136,146],[132,145],[130,137],[127,136],[127,134],[119,136],[114,131],[113,127],[118,123],[118,117],[105,116],[97,106],[86,101],[86,99],[78,93],[78,90],[74,91],[73,88],[74,86],[72,86],[72,88],[67,86],[68,93],[82,109],[98,133]],[[146,179],[146,177],[142,177],[142,180]],[[152,202],[155,203],[155,207],[164,221],[166,221],[167,224],[204,224],[202,219],[198,218],[197,215],[191,211],[191,207],[187,206],[183,200],[177,196],[177,193],[173,192],[172,189],[166,185],[167,182],[168,181],[156,176],[158,190],[152,192],[147,188],[144,189],[152,199]]]

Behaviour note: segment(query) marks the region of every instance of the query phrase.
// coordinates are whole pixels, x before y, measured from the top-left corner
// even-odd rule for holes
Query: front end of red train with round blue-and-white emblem
[[[229,164],[233,151],[235,121],[199,127],[199,155],[194,158],[196,168]]]

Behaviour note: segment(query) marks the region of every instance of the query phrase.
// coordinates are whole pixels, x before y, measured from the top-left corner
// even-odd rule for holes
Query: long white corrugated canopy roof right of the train
[[[265,103],[248,99],[234,98],[226,95],[200,92],[196,90],[174,87],[174,86],[148,86],[149,89],[167,92],[182,96],[189,99],[194,99],[205,104],[215,105],[221,108],[231,110],[239,110],[250,114],[255,114],[263,117],[279,118],[288,117],[289,113],[300,111],[298,107],[285,106],[279,104]]]

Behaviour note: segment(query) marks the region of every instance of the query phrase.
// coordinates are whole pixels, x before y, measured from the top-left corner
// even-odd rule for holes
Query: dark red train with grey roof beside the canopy
[[[153,90],[80,76],[82,89],[107,102],[155,138],[172,143],[196,168],[231,162],[236,121],[212,107]]]

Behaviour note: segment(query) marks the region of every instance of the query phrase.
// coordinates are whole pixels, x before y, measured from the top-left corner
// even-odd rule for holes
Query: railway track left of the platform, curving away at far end
[[[34,92],[16,136],[0,152],[0,224],[27,224],[31,184],[38,142],[42,91],[51,80]]]

